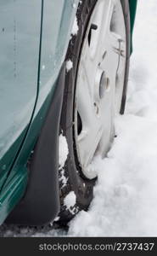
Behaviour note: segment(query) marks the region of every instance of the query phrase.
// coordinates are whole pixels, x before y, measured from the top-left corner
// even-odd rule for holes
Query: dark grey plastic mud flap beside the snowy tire
[[[59,122],[64,96],[65,63],[57,81],[52,103],[29,166],[25,197],[6,222],[22,225],[48,224],[59,212]]]

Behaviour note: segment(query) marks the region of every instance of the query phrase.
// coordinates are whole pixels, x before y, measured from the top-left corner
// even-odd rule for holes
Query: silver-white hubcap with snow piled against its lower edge
[[[96,177],[91,163],[114,138],[126,69],[126,26],[120,0],[98,0],[87,27],[76,80],[75,140],[81,170]]]

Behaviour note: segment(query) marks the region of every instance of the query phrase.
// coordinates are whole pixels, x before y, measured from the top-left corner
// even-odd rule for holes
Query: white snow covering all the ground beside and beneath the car
[[[0,236],[157,236],[157,2],[138,0],[126,114],[115,119],[88,212],[70,229],[3,225]]]

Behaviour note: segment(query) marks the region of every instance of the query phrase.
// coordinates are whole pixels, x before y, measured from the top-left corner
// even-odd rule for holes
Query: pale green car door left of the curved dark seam
[[[42,0],[0,1],[0,189],[36,102]]]

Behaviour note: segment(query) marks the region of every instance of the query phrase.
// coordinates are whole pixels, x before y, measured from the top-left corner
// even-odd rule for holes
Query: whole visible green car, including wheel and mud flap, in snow
[[[89,207],[125,109],[136,6],[0,1],[0,224],[64,225]]]

